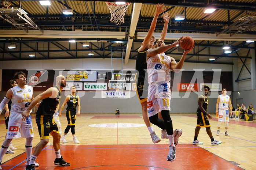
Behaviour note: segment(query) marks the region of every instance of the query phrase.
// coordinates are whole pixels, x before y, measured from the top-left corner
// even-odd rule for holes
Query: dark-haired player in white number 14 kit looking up
[[[0,170],[1,162],[3,160],[4,153],[8,149],[8,146],[12,139],[24,137],[26,138],[26,154],[27,162],[29,161],[32,154],[32,140],[33,140],[33,126],[31,121],[31,116],[22,120],[22,113],[30,104],[33,97],[33,88],[26,85],[26,75],[23,72],[17,72],[14,75],[15,81],[18,86],[9,89],[4,97],[3,101],[0,103],[0,112],[3,111],[4,106],[12,100],[11,105],[11,116],[8,123],[7,137],[4,140],[1,150],[0,150]],[[39,166],[38,163],[36,166]]]

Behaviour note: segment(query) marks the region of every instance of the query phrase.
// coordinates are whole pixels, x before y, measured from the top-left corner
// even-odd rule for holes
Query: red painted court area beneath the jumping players
[[[61,155],[71,165],[55,166],[55,152],[46,147],[36,170],[241,170],[228,161],[193,144],[178,144],[176,160],[166,160],[168,144],[61,146]],[[24,170],[26,153],[2,165],[3,170]]]

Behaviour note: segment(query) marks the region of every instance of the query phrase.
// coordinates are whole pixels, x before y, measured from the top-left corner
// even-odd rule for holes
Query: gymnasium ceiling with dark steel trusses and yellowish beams
[[[155,1],[130,0],[124,23],[116,25],[109,21],[111,15],[104,1],[51,0],[51,5],[43,6],[39,0],[13,0],[8,9],[3,6],[3,0],[0,2],[1,61],[112,56],[123,57],[127,64],[128,58],[136,59],[138,48],[156,11],[156,4],[151,4]],[[244,61],[251,58],[250,49],[255,49],[255,46],[245,41],[256,40],[255,0],[159,2],[165,3],[164,8],[171,15],[165,44],[174,42],[182,35],[190,35],[195,39],[195,48],[187,55],[186,62],[233,64],[234,59]],[[134,6],[134,3],[142,3],[141,8]],[[22,15],[24,19],[15,16],[19,8],[27,13]],[[206,14],[205,8],[216,10]],[[62,14],[63,9],[72,10],[73,15]],[[175,15],[185,15],[185,19],[176,21]],[[134,24],[137,19],[138,23]],[[26,24],[25,20],[30,24]],[[162,16],[159,15],[154,33],[156,37],[159,37],[163,24]],[[133,31],[134,36],[131,36]],[[70,43],[70,39],[76,42]],[[89,43],[89,47],[83,47],[83,43]],[[8,49],[11,44],[15,44],[16,48]],[[225,54],[223,45],[229,45],[232,52]],[[94,52],[94,55],[89,56],[89,52]],[[165,53],[179,61],[182,52],[175,47]],[[29,57],[32,53],[36,56]],[[209,61],[209,57],[215,60]]]

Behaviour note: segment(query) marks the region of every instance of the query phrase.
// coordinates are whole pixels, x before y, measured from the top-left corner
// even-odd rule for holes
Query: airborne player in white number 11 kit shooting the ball
[[[169,138],[169,153],[168,161],[176,159],[175,144],[173,141],[172,120],[169,114],[171,110],[171,88],[170,88],[170,71],[180,72],[184,64],[186,54],[189,53],[194,46],[188,50],[184,50],[183,55],[177,64],[174,58],[166,56],[165,50],[168,50],[180,42],[183,42],[183,37],[175,41],[173,44],[165,45],[164,41],[158,40],[155,49],[147,50],[147,74],[148,74],[148,96],[147,96],[147,112],[149,120],[152,124],[158,127],[161,124],[165,125],[165,129]],[[163,120],[158,118],[158,112],[161,111]]]

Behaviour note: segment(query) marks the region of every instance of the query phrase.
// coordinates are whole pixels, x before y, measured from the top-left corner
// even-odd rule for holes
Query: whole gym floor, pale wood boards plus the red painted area
[[[34,126],[33,147],[39,142],[37,125]],[[141,114],[82,114],[77,116],[76,137],[80,144],[73,143],[72,134],[66,136],[67,143],[61,142],[61,155],[68,167],[53,164],[55,153],[50,142],[37,158],[36,170],[255,170],[256,167],[256,122],[231,119],[227,137],[224,123],[220,135],[216,136],[217,118],[210,120],[213,137],[222,141],[211,145],[205,128],[201,128],[198,140],[202,145],[193,145],[195,114],[171,114],[173,128],[183,130],[176,146],[176,160],[166,160],[169,140],[162,139],[153,144]],[[65,114],[60,117],[62,134],[67,125]],[[3,114],[0,116],[0,144],[6,135]],[[153,125],[158,137],[161,129]],[[25,169],[25,139],[12,140],[14,154],[5,154],[3,170]]]

